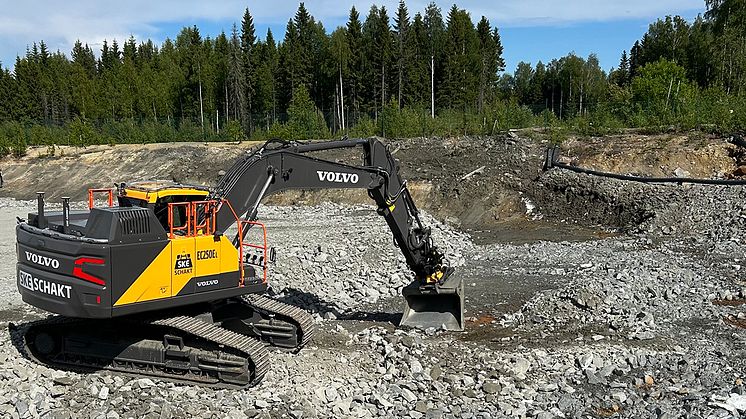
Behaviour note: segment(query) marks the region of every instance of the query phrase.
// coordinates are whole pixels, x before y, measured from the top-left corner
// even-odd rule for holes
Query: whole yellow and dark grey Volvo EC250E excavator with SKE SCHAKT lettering
[[[313,152],[362,149],[360,165]],[[401,325],[463,330],[463,283],[433,244],[399,163],[375,138],[270,140],[211,189],[175,182],[89,191],[89,210],[38,209],[18,221],[23,301],[55,313],[13,326],[37,362],[242,388],[268,371],[268,347],[299,350],[314,331],[306,311],[265,295],[266,196],[287,189],[366,189],[412,270]],[[105,204],[100,194],[108,195]],[[96,199],[98,197],[99,199]],[[313,278],[308,278],[309,281]],[[327,278],[343,281],[344,278]]]

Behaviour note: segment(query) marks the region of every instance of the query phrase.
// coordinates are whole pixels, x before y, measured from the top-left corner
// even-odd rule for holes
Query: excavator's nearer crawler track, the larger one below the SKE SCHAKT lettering
[[[11,334],[32,360],[81,373],[109,370],[245,388],[261,381],[270,367],[263,342],[189,316],[105,321],[55,316],[11,325]]]

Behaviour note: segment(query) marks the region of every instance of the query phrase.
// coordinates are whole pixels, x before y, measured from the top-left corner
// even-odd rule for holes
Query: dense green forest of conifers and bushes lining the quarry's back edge
[[[529,126],[592,135],[622,127],[746,129],[746,6],[707,1],[694,22],[653,22],[607,75],[568,54],[503,74],[498,28],[457,6],[391,17],[353,7],[328,33],[303,3],[276,42],[250,11],[215,38],[186,27],[70,58],[42,41],[0,68],[0,154],[53,144],[493,135]],[[237,16],[237,18],[240,18]],[[280,40],[278,40],[280,41]],[[100,56],[100,58],[96,58]],[[435,117],[430,114],[431,75]],[[344,116],[344,117],[342,117]],[[344,119],[345,124],[342,125]],[[52,153],[50,153],[52,154]]]

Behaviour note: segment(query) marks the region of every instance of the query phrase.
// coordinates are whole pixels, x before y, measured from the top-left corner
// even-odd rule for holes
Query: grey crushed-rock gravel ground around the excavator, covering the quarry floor
[[[543,223],[554,220],[552,241],[511,244],[497,235],[476,245],[426,217],[466,281],[462,334],[394,327],[407,271],[373,208],[266,207],[278,251],[273,291],[316,313],[321,331],[298,354],[273,352],[270,373],[245,391],[79,375],[20,357],[7,323],[43,314],[25,308],[15,291],[11,228],[33,204],[2,200],[0,257],[11,263],[0,268],[0,416],[746,414],[746,330],[734,326],[746,325],[746,190],[559,171],[537,185],[530,197]],[[592,219],[624,233],[563,241],[577,226],[559,219]]]

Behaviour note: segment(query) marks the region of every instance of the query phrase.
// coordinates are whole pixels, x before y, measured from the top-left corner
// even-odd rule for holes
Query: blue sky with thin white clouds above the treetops
[[[327,31],[332,31],[345,24],[353,4],[364,19],[373,3],[313,0],[306,1],[306,7]],[[375,3],[385,5],[393,16],[398,0]],[[410,15],[423,11],[427,3],[429,0],[407,1]],[[436,3],[445,18],[452,1]],[[655,19],[679,14],[693,20],[704,12],[704,0],[463,0],[457,5],[470,11],[474,21],[484,15],[500,28],[506,70],[510,72],[519,61],[547,62],[571,51],[581,56],[595,52],[601,66],[608,70],[618,64],[622,50],[628,50]],[[215,36],[221,30],[229,33],[234,22],[240,24],[246,7],[261,37],[271,28],[275,39],[282,39],[298,2],[128,0],[112,4],[68,0],[61,7],[55,0],[0,0],[0,10],[5,11],[0,15],[0,62],[3,67],[12,66],[17,54],[23,55],[28,45],[40,39],[50,49],[69,54],[76,39],[98,50],[104,39],[122,41],[130,35],[160,43],[191,25],[197,25],[203,36]]]

